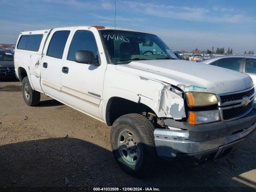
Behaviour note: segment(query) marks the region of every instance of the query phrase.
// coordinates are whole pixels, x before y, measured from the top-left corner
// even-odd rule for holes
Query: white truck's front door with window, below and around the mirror
[[[91,51],[100,66],[74,61],[79,50]],[[103,80],[107,67],[106,56],[98,30],[94,27],[77,27],[70,39],[62,63],[62,98],[64,103],[102,119]]]

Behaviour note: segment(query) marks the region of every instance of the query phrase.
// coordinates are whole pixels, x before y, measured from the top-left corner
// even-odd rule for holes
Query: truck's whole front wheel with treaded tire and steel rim
[[[142,178],[154,173],[157,161],[154,129],[152,122],[140,114],[123,115],[112,125],[110,142],[114,158],[131,176]]]

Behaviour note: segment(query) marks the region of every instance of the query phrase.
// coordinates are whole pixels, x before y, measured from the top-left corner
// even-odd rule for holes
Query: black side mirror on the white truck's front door
[[[75,62],[84,63],[84,64],[92,64],[92,65],[100,65],[97,59],[94,59],[94,54],[91,51],[80,50],[75,54]]]

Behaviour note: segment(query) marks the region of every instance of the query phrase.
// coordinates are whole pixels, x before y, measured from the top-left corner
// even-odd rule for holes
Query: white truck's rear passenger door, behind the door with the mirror
[[[58,100],[61,100],[61,73],[64,51],[73,30],[74,28],[70,27],[53,29],[46,41],[42,55],[40,67],[42,90]]]

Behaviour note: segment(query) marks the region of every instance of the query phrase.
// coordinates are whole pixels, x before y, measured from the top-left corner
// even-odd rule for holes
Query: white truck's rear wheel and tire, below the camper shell
[[[22,95],[28,106],[36,106],[40,102],[40,92],[32,90],[28,77],[22,80]]]

